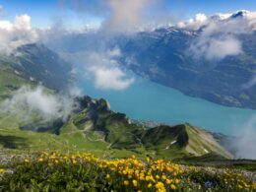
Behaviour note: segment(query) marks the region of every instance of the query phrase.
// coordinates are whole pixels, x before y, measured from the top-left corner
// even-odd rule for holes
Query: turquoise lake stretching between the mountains
[[[126,113],[132,119],[170,124],[189,122],[228,135],[235,135],[256,115],[256,110],[227,107],[185,96],[149,80],[136,81],[124,91],[100,91],[86,79],[80,80],[79,87],[85,95],[107,99],[112,110]]]

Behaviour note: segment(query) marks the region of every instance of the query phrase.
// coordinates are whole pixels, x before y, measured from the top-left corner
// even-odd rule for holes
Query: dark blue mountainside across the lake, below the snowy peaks
[[[129,68],[157,83],[188,96],[228,106],[256,108],[255,85],[245,88],[256,75],[256,33],[239,36],[243,54],[220,61],[198,60],[190,55],[188,48],[199,35],[200,30],[169,27],[120,37],[115,43],[125,58],[132,59],[127,63]]]

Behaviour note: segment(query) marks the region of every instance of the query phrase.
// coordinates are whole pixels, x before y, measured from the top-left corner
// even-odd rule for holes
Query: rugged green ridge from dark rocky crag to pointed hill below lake
[[[108,149],[139,150],[151,156],[170,159],[212,153],[227,159],[232,158],[215,140],[213,134],[205,130],[189,124],[160,125],[146,129],[141,124],[132,123],[125,114],[112,112],[103,99],[90,100],[89,97],[84,97],[80,100],[87,102],[86,108],[75,114],[60,129],[60,135],[80,133],[92,140],[107,143]]]

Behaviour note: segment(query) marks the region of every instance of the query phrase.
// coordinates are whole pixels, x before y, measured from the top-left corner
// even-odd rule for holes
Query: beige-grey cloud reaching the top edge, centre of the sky
[[[152,16],[158,12],[160,3],[161,0],[59,1],[60,7],[68,7],[78,14],[90,15],[100,20],[100,31],[108,34],[134,32],[141,26],[145,26],[145,23],[152,20]]]

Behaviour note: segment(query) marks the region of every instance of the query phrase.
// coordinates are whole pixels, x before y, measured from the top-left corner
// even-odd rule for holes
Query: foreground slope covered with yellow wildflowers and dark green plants
[[[39,174],[38,174],[39,173]],[[42,152],[0,165],[0,191],[253,191],[253,174],[169,160]]]

